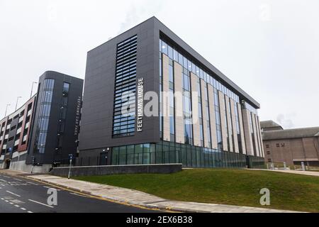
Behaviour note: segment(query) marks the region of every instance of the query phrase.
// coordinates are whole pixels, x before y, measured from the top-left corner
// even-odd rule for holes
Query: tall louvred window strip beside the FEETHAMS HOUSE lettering
[[[113,137],[135,133],[137,35],[117,45]],[[124,110],[124,112],[123,112]]]

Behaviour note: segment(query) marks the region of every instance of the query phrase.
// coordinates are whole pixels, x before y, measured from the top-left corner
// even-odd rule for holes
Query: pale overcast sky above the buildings
[[[261,120],[319,126],[318,11],[318,0],[0,0],[0,118],[45,70],[84,78],[87,51],[156,16],[259,101]]]

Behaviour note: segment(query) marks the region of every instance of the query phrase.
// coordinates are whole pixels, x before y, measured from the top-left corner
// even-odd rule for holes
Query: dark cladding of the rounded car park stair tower
[[[45,153],[35,152],[35,138],[37,132],[37,124],[40,112],[40,103],[43,94],[43,83],[45,79],[55,79],[55,86],[52,95],[52,103],[50,109],[50,118],[47,128],[47,138],[45,143]],[[63,96],[63,83],[70,84],[67,104],[67,115],[65,118],[65,131],[63,133],[62,150],[57,152],[57,133],[58,123],[60,120],[60,110]],[[76,128],[77,107],[82,100],[83,79],[71,77],[60,72],[47,71],[41,75],[38,84],[38,98],[35,101],[35,110],[33,115],[33,128],[31,132],[30,145],[28,148],[28,157],[26,163],[32,163],[33,156],[35,162],[40,164],[52,164],[55,160],[67,160],[69,154],[76,155],[78,135],[74,133]]]

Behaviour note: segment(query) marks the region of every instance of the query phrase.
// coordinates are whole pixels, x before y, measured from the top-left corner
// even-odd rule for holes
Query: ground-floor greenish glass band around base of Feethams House
[[[111,165],[182,163],[183,167],[242,168],[247,165],[246,159],[240,153],[161,141],[112,148]],[[262,162],[263,158],[256,160]]]

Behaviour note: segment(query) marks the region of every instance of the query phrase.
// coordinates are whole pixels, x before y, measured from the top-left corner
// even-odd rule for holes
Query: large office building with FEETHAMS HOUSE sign
[[[88,52],[79,162],[262,165],[257,109],[152,17]]]

